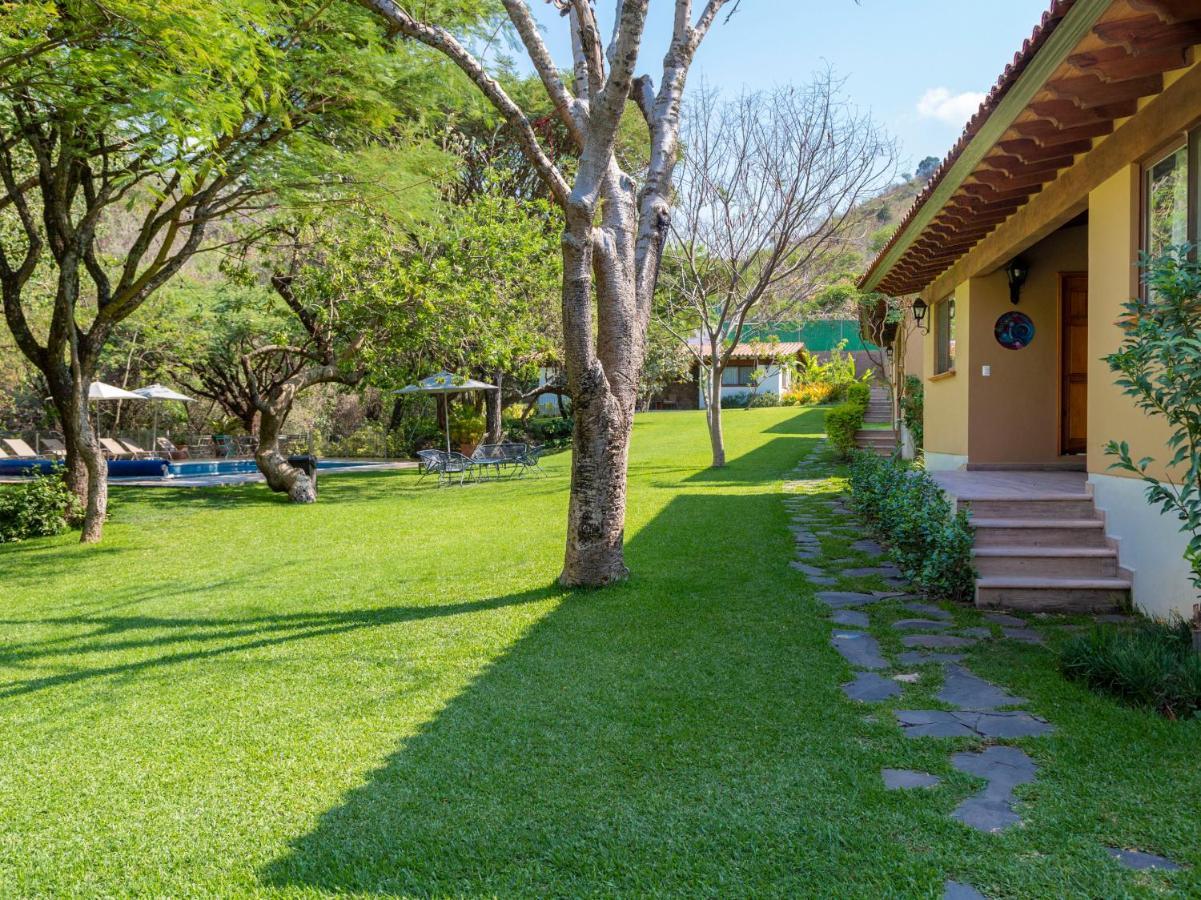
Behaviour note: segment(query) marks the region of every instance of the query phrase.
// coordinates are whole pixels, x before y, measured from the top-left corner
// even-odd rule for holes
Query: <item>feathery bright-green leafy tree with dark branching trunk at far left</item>
[[[424,6],[470,28],[485,4]],[[46,379],[91,542],[107,471],[86,398],[116,326],[197,254],[256,236],[222,222],[345,180],[444,79],[328,0],[6,4],[0,49],[5,317]]]

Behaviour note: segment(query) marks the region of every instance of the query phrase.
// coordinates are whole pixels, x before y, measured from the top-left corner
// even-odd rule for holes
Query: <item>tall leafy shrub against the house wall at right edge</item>
[[[1135,406],[1171,428],[1171,457],[1163,460],[1166,475],[1149,471],[1153,457],[1136,461],[1127,441],[1110,441],[1105,452],[1117,457],[1111,469],[1147,483],[1149,503],[1179,519],[1181,531],[1190,536],[1184,558],[1201,590],[1201,266],[1189,252],[1189,246],[1177,246],[1160,257],[1143,257],[1154,300],[1125,304],[1125,336],[1118,351],[1105,357],[1118,376],[1115,383]]]

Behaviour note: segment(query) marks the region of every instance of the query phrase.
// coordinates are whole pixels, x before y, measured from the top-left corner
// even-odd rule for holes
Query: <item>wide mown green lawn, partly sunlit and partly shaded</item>
[[[640,417],[634,576],[600,592],[554,584],[566,454],[462,489],[323,477],[312,507],[121,489],[100,547],[0,549],[0,895],[1201,892],[1201,722],[974,651],[1058,726],[1021,741],[1027,824],[981,835],[946,815],[969,741],[843,698],[782,493],[821,416],[731,412],[717,473],[701,413]]]

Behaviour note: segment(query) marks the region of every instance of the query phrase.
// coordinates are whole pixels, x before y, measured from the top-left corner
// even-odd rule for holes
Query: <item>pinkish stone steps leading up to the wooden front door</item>
[[[1131,578],[1092,494],[958,495],[972,513],[976,606],[1047,613],[1129,609]]]

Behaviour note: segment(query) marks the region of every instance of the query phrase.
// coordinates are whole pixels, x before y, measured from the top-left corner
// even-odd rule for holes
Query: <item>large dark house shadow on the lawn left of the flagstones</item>
[[[754,542],[728,540],[740,523]],[[853,817],[856,751],[830,743],[854,714],[814,664],[830,651],[788,542],[776,494],[676,497],[629,542],[629,583],[570,595],[259,877],[404,895],[832,883],[839,851],[805,806],[821,785],[820,813]]]

